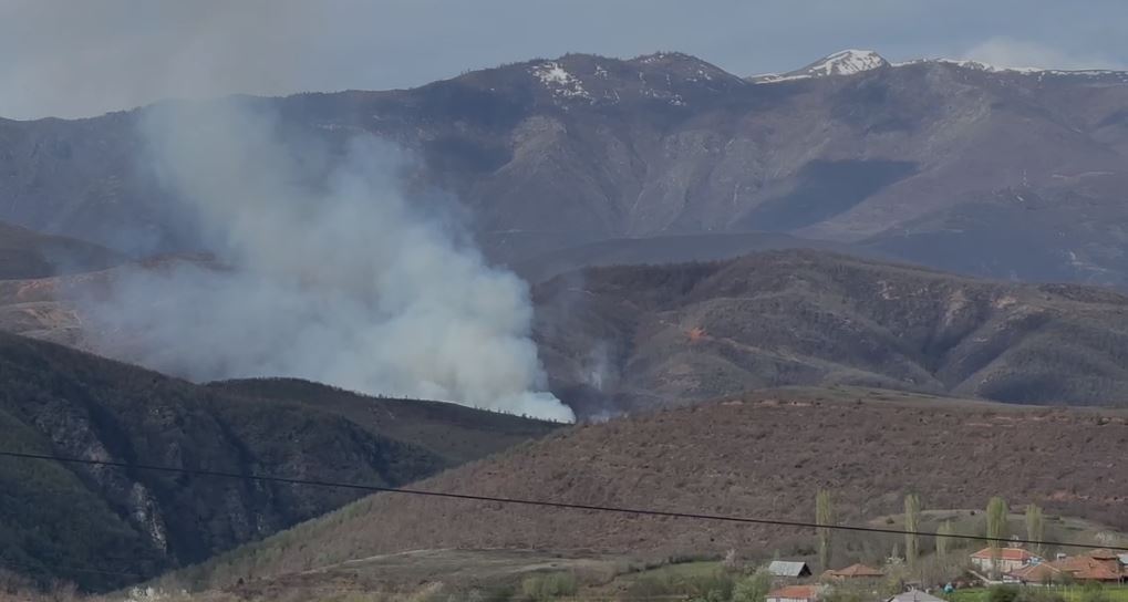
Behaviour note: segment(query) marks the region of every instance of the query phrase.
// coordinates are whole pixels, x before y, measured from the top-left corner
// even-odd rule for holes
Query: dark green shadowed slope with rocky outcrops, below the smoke
[[[365,398],[314,383],[273,383],[276,398],[222,389],[0,334],[0,448],[400,485],[553,427],[446,404],[411,411],[411,401],[368,400],[372,409],[404,408],[380,431],[340,410],[361,411]],[[335,404],[342,397],[349,402]],[[481,441],[461,443],[468,439]],[[0,461],[0,560],[88,587],[126,579],[70,567],[98,561],[151,575],[358,495],[18,460]]]

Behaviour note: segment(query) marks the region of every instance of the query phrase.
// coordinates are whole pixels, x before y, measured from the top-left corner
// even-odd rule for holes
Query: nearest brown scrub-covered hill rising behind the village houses
[[[417,487],[467,494],[809,520],[819,487],[843,522],[927,507],[1012,505],[1128,525],[1119,459],[1128,411],[1056,409],[874,390],[781,390],[581,425]],[[222,583],[433,548],[623,552],[772,549],[794,529],[380,494],[179,578]]]

